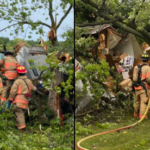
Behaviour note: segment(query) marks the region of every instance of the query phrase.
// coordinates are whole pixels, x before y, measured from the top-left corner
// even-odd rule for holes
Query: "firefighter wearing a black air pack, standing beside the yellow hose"
[[[150,67],[148,65],[149,55],[143,53],[141,56],[142,62],[135,66],[133,72],[133,85],[136,95],[136,100],[134,104],[134,117],[139,117],[140,119],[145,113],[147,108],[149,93],[148,90],[150,86]],[[145,116],[147,118],[147,115]]]

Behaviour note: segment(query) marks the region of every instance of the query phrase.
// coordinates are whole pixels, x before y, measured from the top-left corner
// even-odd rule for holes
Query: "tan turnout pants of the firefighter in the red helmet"
[[[26,109],[22,109],[16,106],[16,104],[14,104],[13,106],[13,112],[16,116],[16,126],[18,127],[18,129],[23,129],[26,127],[25,124],[25,112]]]

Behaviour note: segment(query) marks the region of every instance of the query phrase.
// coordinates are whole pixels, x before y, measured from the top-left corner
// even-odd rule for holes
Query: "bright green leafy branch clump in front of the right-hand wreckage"
[[[82,80],[83,96],[87,93],[87,87],[89,86],[90,92],[93,94],[93,99],[95,103],[101,98],[102,93],[105,92],[102,82],[106,80],[109,74],[109,66],[105,60],[102,60],[100,64],[90,63],[84,60],[85,68],[84,70],[76,73],[76,81]],[[78,95],[76,92],[76,97],[80,97],[81,93]]]

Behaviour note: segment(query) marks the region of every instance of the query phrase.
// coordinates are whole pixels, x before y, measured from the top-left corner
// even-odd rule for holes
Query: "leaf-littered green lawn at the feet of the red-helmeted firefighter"
[[[27,121],[26,131],[16,130],[11,110],[0,114],[0,150],[72,150],[74,146],[73,118],[60,126],[59,119],[50,119],[50,125]]]

